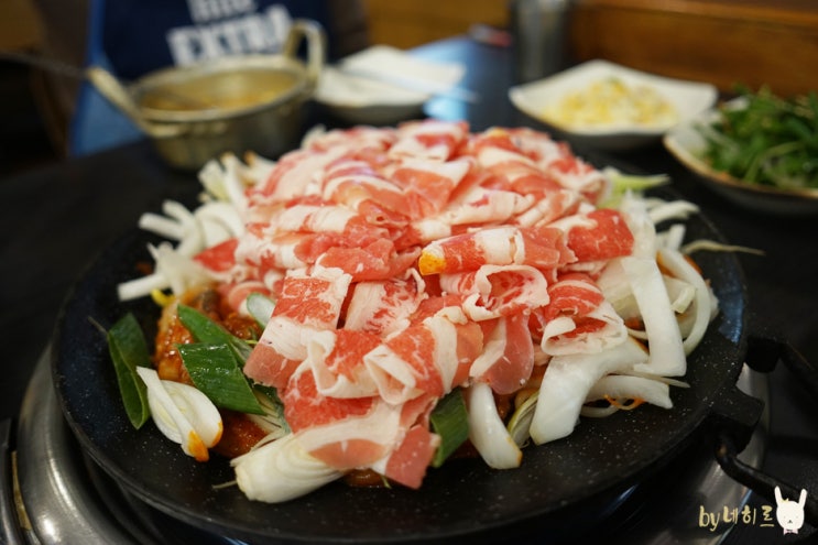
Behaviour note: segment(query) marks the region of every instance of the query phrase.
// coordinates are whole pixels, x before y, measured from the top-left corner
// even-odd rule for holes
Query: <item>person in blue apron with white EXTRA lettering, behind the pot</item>
[[[368,45],[356,0],[36,0],[46,54],[98,65],[123,81],[166,66],[243,53],[277,53],[294,19],[325,30],[330,61]],[[83,21],[83,35],[76,23]],[[74,24],[72,24],[72,21]],[[84,53],[77,50],[83,48]],[[51,51],[48,51],[51,50]],[[81,59],[77,62],[77,59]],[[144,134],[87,81],[44,75],[48,117],[67,155],[122,145]],[[41,100],[42,101],[42,100]]]

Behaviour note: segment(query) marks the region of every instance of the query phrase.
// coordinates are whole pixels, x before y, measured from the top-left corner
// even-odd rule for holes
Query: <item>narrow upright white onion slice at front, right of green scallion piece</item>
[[[486,382],[476,382],[465,390],[465,394],[469,439],[483,461],[494,469],[520,467],[523,453],[497,411],[491,386]]]

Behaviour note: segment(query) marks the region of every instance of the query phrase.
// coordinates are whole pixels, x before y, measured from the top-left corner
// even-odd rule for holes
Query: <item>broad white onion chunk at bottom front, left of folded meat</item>
[[[307,453],[293,434],[265,443],[230,462],[250,499],[280,503],[299,498],[343,473]]]

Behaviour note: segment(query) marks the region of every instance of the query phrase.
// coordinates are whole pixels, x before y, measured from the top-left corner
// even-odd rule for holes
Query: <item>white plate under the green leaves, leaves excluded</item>
[[[741,99],[732,107],[740,108]],[[692,171],[707,187],[742,208],[778,216],[810,216],[818,214],[818,189],[779,189],[742,182],[730,174],[716,171],[701,157],[707,142],[697,129],[715,121],[716,109],[680,123],[665,134],[665,148],[683,165]]]

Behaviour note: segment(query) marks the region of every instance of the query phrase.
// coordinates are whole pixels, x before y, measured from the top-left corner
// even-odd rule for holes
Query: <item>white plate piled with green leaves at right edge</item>
[[[818,96],[742,89],[665,134],[665,148],[713,192],[756,211],[818,214]]]

